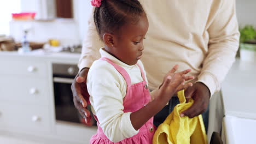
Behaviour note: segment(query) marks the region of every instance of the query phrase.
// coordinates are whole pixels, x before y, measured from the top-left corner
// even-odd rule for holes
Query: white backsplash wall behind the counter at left
[[[73,19],[53,21],[10,21],[10,35],[21,41],[24,29],[28,29],[29,41],[46,42],[57,39],[61,44],[80,44],[77,22]]]

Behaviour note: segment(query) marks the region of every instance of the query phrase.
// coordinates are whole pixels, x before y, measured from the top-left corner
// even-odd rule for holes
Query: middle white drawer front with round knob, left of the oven
[[[24,104],[49,105],[48,79],[21,76],[0,76],[0,101],[18,101]]]

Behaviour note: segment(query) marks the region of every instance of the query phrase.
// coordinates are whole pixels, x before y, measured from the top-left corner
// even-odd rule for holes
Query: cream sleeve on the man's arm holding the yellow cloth
[[[198,76],[198,81],[210,89],[211,95],[220,90],[220,83],[234,63],[240,38],[235,0],[221,2],[216,13],[210,14],[213,18],[207,29],[208,53]]]

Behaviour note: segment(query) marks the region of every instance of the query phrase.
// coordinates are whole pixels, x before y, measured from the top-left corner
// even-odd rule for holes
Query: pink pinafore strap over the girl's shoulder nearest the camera
[[[115,63],[113,63],[109,58],[102,57],[102,58],[100,58],[100,59],[103,60],[103,61],[106,61],[106,62],[108,62],[108,63],[110,63],[110,64],[112,64],[113,67],[114,67],[115,69],[117,69],[118,72],[124,77],[124,79],[125,79],[125,81],[126,81],[126,84],[127,84],[127,87],[130,87],[130,86],[131,86],[131,78],[130,78],[129,74],[127,73],[127,71],[126,71],[124,68],[122,68],[121,66],[119,66],[119,65],[117,65],[117,64],[115,64]]]

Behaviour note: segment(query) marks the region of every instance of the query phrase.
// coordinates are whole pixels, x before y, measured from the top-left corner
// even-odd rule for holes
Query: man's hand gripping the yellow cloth
[[[189,118],[193,118],[207,110],[210,101],[210,90],[205,84],[196,82],[192,87],[186,89],[185,97],[187,101],[192,98],[194,103],[188,110],[181,113],[181,117],[188,116]]]

